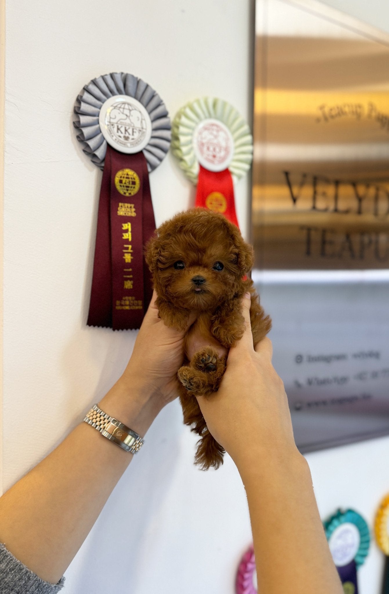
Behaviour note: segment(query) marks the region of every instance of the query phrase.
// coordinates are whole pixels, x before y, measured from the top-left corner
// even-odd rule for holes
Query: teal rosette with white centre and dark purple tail
[[[357,569],[369,552],[369,527],[354,510],[338,510],[324,523],[331,555],[338,570],[344,594],[358,594]]]

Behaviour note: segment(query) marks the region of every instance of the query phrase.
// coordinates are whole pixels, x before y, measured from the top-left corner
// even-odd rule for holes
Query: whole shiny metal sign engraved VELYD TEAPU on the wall
[[[389,434],[389,36],[256,11],[252,277],[306,452]]]

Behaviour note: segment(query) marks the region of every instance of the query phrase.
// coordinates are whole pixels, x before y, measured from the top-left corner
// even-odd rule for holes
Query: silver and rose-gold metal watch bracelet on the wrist
[[[97,431],[100,431],[104,437],[131,454],[136,454],[144,443],[143,437],[118,421],[118,419],[107,415],[97,404],[90,409],[84,421],[97,429]]]

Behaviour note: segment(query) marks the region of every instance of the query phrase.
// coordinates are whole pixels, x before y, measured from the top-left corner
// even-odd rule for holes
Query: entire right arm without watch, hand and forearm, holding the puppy
[[[245,485],[258,592],[341,594],[311,472],[296,448],[283,382],[271,365],[271,342],[264,337],[253,347],[249,296],[241,304],[245,332],[230,348],[219,390],[198,403]]]

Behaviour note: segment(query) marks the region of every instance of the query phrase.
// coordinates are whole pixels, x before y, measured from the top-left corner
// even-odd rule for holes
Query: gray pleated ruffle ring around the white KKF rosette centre
[[[115,95],[134,97],[146,108],[151,120],[151,138],[143,149],[148,171],[156,169],[170,146],[171,125],[165,103],[141,78],[126,72],[110,72],[93,78],[78,95],[74,106],[74,127],[83,151],[100,169],[104,167],[107,141],[99,124],[103,103]]]

